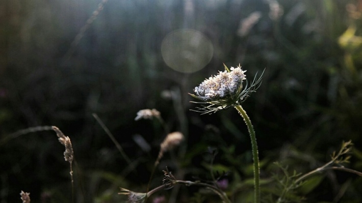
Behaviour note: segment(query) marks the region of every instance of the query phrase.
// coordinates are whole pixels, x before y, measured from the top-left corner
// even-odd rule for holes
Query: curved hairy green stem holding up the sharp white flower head
[[[243,117],[249,130],[250,139],[251,139],[251,148],[254,160],[254,202],[260,203],[260,163],[257,152],[255,131],[243,107],[241,107],[241,105],[237,105],[235,106],[235,108],[239,111],[240,115]]]

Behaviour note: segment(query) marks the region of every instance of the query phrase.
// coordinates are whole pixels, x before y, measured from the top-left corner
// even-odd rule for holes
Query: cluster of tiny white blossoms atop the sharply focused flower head
[[[243,80],[246,79],[245,72],[241,69],[240,64],[237,68],[231,67],[230,72],[219,71],[218,75],[205,79],[199,86],[196,86],[194,92],[204,101],[222,99],[235,94]]]

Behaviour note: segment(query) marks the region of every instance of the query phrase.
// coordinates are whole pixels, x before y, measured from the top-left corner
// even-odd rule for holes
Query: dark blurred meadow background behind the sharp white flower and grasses
[[[348,167],[361,171],[361,13],[360,0],[0,1],[0,202],[20,202],[21,190],[32,202],[71,202],[56,134],[13,134],[36,126],[57,126],[70,137],[75,202],[124,202],[119,187],[144,192],[159,144],[172,131],[186,139],[165,154],[151,188],[162,184],[165,166],[180,179],[201,176],[208,147],[219,150],[215,162],[232,171],[229,187],[236,187],[252,177],[243,120],[233,109],[189,110],[196,105],[188,93],[223,63],[240,63],[249,81],[265,69],[243,104],[262,178],[271,177],[274,161],[313,170],[349,139],[355,150]],[[159,110],[164,124],[135,121],[147,108]],[[317,194],[305,194],[308,202],[362,201],[361,178],[328,174]],[[183,198],[195,190],[156,196],[191,202]]]

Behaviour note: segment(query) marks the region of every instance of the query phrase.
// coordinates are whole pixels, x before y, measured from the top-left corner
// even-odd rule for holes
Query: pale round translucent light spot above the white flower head
[[[213,53],[211,41],[202,33],[190,29],[171,32],[161,44],[165,63],[183,73],[201,70],[211,61]]]

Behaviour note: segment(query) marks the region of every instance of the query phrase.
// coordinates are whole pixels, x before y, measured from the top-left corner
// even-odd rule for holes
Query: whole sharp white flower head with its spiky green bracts
[[[193,103],[210,104],[208,106],[203,105],[202,108],[197,107],[195,111],[214,113],[221,109],[240,105],[258,88],[262,76],[256,79],[255,75],[249,87],[246,81],[245,88],[243,89],[242,83],[243,80],[246,80],[246,75],[244,74],[246,71],[241,69],[240,64],[237,68],[231,67],[228,69],[225,64],[224,67],[224,72],[219,71],[218,75],[205,79],[199,86],[196,86],[194,89],[196,95],[190,94],[192,97],[202,101]]]

